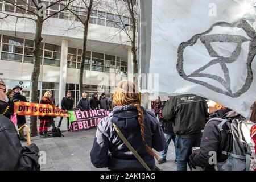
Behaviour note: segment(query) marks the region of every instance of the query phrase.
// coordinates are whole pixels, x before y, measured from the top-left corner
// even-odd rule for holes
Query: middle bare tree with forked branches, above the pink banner
[[[93,9],[100,3],[100,1],[93,1],[93,0],[82,0],[80,3],[80,7],[85,7],[86,9],[71,9],[68,10],[75,16],[76,19],[78,19],[84,28],[84,35],[83,35],[83,43],[82,43],[82,60],[80,65],[80,75],[79,75],[79,93],[80,98],[82,97],[83,92],[83,82],[84,82],[84,63],[86,59],[86,46],[87,46],[87,40],[88,40],[88,28],[89,28],[89,20],[90,15],[92,14]],[[80,16],[81,12],[86,11],[86,18],[83,19]]]

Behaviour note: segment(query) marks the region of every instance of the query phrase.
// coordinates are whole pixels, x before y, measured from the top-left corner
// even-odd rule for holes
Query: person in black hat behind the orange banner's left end
[[[27,99],[25,96],[22,96],[22,94],[20,93],[22,91],[22,88],[20,86],[15,86],[13,88],[14,91],[14,102],[16,101],[21,101],[21,102],[27,102]],[[18,115],[17,116],[17,125],[18,128],[22,127],[23,125],[26,124],[26,117],[24,115]],[[23,131],[19,132],[20,135],[20,140],[24,140],[26,141],[27,139],[24,137],[24,133]]]

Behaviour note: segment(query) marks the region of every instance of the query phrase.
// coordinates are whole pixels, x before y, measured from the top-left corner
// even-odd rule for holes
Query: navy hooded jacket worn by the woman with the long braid
[[[154,113],[146,111],[143,107],[144,133],[148,146],[156,151],[163,151],[166,147],[166,138],[155,118]],[[115,119],[113,119],[115,117]],[[138,152],[148,167],[154,170],[155,159],[146,151],[141,137],[141,127],[138,122],[138,111],[131,105],[114,107],[112,113],[98,123],[96,138],[94,139],[90,158],[97,168],[108,167],[114,171],[143,171],[142,164],[135,158],[125,143],[119,138],[113,123],[119,127],[122,134]],[[108,153],[110,151],[110,153]]]

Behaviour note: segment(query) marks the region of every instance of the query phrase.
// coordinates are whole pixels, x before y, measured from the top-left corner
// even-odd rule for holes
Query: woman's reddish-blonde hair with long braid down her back
[[[113,104],[116,106],[133,105],[138,110],[138,122],[141,126],[141,137],[145,144],[148,154],[159,160],[159,156],[155,154],[150,146],[146,143],[144,133],[143,111],[141,109],[141,97],[137,86],[130,81],[121,81],[113,94]]]

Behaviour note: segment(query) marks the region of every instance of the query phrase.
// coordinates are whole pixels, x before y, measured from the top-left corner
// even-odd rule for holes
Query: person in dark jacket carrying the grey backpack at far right
[[[223,106],[219,107],[215,113],[210,114],[210,118],[239,119],[240,117],[240,114]],[[195,166],[199,166],[203,167],[205,171],[214,170],[214,166],[209,163],[209,158],[212,156],[209,155],[211,151],[216,152],[217,162],[224,162],[228,158],[228,155],[224,155],[221,152],[230,151],[230,147],[232,147],[232,135],[229,135],[228,133],[221,135],[221,131],[218,128],[219,124],[220,121],[213,120],[205,125],[200,145],[200,152],[199,154],[193,153],[189,157],[189,164],[191,164],[193,168],[195,168]],[[223,130],[228,130],[228,126],[223,125]]]

